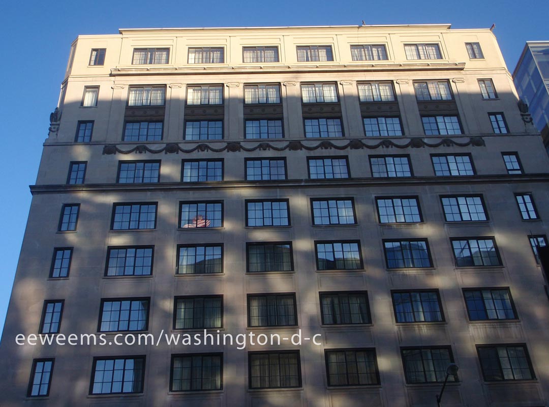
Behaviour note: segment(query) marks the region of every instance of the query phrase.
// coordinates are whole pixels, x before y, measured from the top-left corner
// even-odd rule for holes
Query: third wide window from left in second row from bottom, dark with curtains
[[[295,294],[249,294],[248,326],[298,325]]]

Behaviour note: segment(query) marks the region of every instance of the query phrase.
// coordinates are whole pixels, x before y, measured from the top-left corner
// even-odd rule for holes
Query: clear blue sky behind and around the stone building
[[[386,5],[389,4],[389,5]],[[4,232],[0,239],[0,327],[31,202],[49,113],[55,108],[70,43],[79,34],[117,34],[119,28],[229,27],[450,23],[453,28],[494,31],[513,70],[526,41],[549,40],[549,1],[516,0],[366,2],[278,1],[6,1],[2,30],[2,160],[0,179]],[[58,216],[58,213],[52,216]],[[49,260],[44,265],[49,267]]]

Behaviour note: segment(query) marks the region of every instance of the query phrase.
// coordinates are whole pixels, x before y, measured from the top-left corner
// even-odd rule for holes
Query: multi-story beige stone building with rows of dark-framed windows
[[[442,405],[547,405],[549,158],[517,101],[487,29],[79,36],[0,403],[433,406],[449,378]]]

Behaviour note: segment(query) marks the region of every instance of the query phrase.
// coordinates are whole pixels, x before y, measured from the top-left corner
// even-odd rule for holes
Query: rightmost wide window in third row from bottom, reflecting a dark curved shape
[[[494,238],[451,239],[457,267],[501,266]]]

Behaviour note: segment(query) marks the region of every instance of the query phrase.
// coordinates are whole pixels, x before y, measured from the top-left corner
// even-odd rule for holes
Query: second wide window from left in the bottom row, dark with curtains
[[[221,353],[172,355],[170,391],[221,390],[222,356]]]

